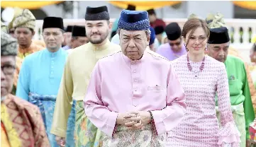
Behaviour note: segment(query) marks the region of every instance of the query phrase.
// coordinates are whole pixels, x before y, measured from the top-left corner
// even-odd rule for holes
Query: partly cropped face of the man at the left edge
[[[1,56],[1,97],[11,93],[15,72],[16,57]]]

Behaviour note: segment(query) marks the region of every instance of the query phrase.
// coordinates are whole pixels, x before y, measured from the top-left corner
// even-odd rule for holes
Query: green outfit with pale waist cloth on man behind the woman
[[[245,64],[238,57],[230,55],[228,55],[224,64],[228,73],[228,85],[233,119],[241,134],[240,147],[245,147],[246,139],[249,139],[249,124],[255,119],[250,88],[245,71]],[[216,99],[216,111],[219,115],[218,99]]]

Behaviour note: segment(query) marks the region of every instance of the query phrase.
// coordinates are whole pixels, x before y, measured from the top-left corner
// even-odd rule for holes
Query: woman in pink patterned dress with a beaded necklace
[[[204,54],[209,29],[204,20],[191,18],[182,37],[188,53],[172,61],[186,93],[187,113],[178,127],[168,132],[172,147],[238,147],[240,133],[230,109],[228,77],[223,63]],[[215,98],[221,112],[221,128]]]

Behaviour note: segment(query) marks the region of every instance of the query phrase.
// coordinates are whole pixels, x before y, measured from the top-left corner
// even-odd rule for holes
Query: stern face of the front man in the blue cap
[[[120,45],[123,54],[132,60],[138,60],[143,56],[149,45],[150,36],[145,30],[120,30]]]

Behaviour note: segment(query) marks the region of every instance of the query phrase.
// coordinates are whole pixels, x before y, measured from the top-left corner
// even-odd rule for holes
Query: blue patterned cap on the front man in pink
[[[123,10],[118,21],[118,28],[123,30],[148,30],[150,28],[148,12]]]

